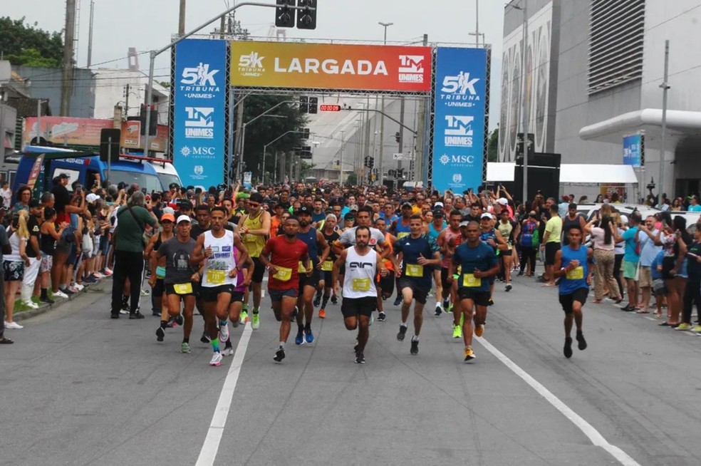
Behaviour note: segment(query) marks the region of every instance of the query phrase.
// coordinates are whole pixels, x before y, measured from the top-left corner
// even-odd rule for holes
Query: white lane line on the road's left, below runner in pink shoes
[[[239,344],[236,347],[236,353],[234,353],[234,361],[232,361],[227,378],[224,380],[224,387],[222,387],[222,393],[219,395],[217,408],[214,408],[214,415],[212,415],[212,423],[209,424],[207,437],[204,439],[202,450],[199,450],[199,457],[197,457],[197,463],[195,463],[197,466],[214,465],[214,460],[217,458],[219,443],[222,442],[224,426],[227,424],[229,408],[232,405],[234,390],[239,380],[239,373],[241,373],[241,366],[244,363],[244,356],[246,356],[246,348],[248,348],[251,333],[253,333],[251,323],[246,323],[241,340],[239,340]]]

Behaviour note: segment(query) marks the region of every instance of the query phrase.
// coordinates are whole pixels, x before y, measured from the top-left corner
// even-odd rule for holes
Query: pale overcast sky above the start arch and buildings
[[[93,66],[126,68],[128,48],[148,51],[161,48],[177,33],[178,0],[94,0]],[[259,0],[261,1],[261,0]],[[262,0],[274,3],[274,0]],[[474,43],[475,2],[477,0],[318,0],[318,22],[315,31],[287,30],[288,37],[381,41],[383,28],[378,21],[393,22],[388,41],[407,43],[420,41],[427,33],[429,41],[439,43]],[[499,118],[499,76],[501,76],[502,30],[504,3],[500,0],[479,1],[479,31],[492,44],[492,108],[490,126]],[[90,0],[79,0],[78,66],[84,67],[88,55]],[[233,6],[234,0],[187,0],[186,30],[194,29]],[[61,31],[66,17],[63,0],[5,1],[0,14],[12,19],[26,18],[41,29]],[[274,10],[244,6],[237,19],[254,36],[268,36],[274,21]],[[218,22],[217,22],[218,26]],[[214,25],[204,29],[212,31]],[[156,62],[155,74],[166,81],[170,61],[164,53]],[[115,59],[120,59],[113,61]],[[139,57],[140,68],[148,70],[148,56]],[[113,61],[99,65],[106,61]]]

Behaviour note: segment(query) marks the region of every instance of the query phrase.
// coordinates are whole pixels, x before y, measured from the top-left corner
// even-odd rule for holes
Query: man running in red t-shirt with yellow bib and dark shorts
[[[285,358],[285,343],[290,336],[290,322],[297,302],[299,270],[306,270],[307,276],[313,271],[308,247],[297,239],[298,219],[289,217],[282,229],[284,234],[269,239],[260,256],[261,264],[270,270],[268,293],[275,319],[280,322],[280,347],[273,358],[277,363]]]

